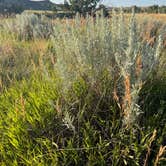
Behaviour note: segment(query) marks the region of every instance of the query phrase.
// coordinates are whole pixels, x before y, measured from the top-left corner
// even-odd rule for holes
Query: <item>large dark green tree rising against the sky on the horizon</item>
[[[100,0],[68,0],[70,10],[82,15],[91,13],[99,2]]]

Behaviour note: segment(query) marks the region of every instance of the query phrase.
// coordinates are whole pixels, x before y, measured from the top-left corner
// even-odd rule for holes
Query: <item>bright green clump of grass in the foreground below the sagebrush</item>
[[[51,73],[50,78],[35,75],[0,96],[1,164],[138,165],[144,160],[151,133],[122,127],[111,89],[103,87],[109,77],[98,91],[78,79],[65,94],[62,80]]]

